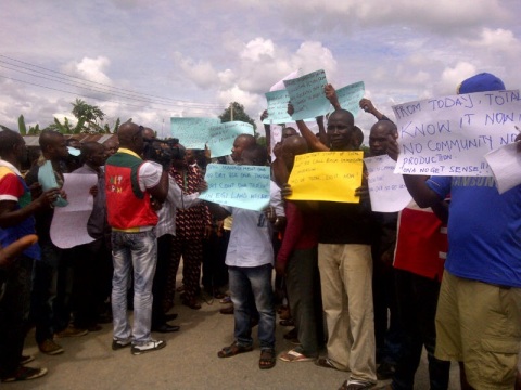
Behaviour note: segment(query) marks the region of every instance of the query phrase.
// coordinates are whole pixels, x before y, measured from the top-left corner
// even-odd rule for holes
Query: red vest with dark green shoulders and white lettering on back
[[[157,224],[149,193],[139,188],[141,164],[141,158],[125,152],[117,152],[106,160],[106,212],[112,227],[129,230]]]

